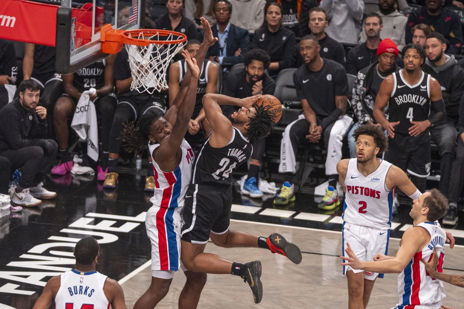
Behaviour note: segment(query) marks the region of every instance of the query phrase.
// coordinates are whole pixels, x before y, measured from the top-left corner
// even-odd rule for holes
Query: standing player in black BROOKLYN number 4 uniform
[[[405,69],[387,76],[380,85],[374,118],[388,132],[390,150],[385,159],[407,171],[423,192],[430,175],[429,127],[445,119],[445,102],[437,80],[420,70],[425,50],[407,44],[403,53]],[[388,120],[384,114],[387,105]],[[430,114],[431,107],[435,114]]]

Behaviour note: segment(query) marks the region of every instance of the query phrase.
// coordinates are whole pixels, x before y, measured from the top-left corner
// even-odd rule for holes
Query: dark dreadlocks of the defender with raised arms
[[[126,141],[126,150],[131,153],[134,152],[134,156],[142,152],[145,146],[148,144],[148,135],[150,134],[150,126],[162,115],[156,113],[153,110],[148,110],[145,114],[140,116],[139,121],[135,125],[134,121],[124,124],[124,128],[121,131],[119,139]]]

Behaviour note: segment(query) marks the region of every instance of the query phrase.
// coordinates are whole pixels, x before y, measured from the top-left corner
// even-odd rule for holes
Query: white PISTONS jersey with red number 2
[[[393,190],[387,189],[385,179],[392,164],[378,160],[379,167],[367,176],[358,170],[356,158],[349,160],[343,221],[381,230],[391,227]]]

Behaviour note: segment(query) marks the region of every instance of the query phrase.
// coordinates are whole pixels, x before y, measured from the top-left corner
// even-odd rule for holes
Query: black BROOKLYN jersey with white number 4
[[[403,69],[393,74],[393,92],[388,103],[388,121],[400,121],[395,133],[409,134],[411,121],[424,121],[430,114],[430,75],[421,71],[419,82],[408,84]]]

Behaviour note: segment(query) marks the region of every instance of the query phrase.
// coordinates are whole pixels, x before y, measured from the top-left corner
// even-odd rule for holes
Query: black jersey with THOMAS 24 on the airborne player
[[[195,158],[193,184],[232,185],[231,173],[251,157],[253,146],[237,128],[232,127],[232,138],[222,148],[214,148],[209,138]]]

